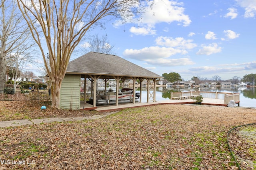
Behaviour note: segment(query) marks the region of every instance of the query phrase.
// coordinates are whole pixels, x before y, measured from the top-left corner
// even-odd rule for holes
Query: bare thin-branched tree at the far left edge
[[[27,41],[28,25],[23,21],[16,0],[0,1],[0,91],[6,83],[6,60]]]

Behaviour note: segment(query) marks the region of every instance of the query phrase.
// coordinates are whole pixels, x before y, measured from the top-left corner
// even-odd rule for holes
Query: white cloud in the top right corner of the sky
[[[244,17],[252,18],[256,15],[255,0],[236,0],[236,2],[245,10]]]

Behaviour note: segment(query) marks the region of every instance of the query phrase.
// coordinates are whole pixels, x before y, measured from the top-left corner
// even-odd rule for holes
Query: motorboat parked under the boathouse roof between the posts
[[[139,102],[140,93],[135,94],[135,102]],[[121,92],[118,92],[118,104],[132,103],[133,89],[123,88]],[[93,96],[89,98],[88,103],[93,104]],[[116,92],[109,90],[108,92],[99,93],[96,96],[96,106],[104,106],[116,104]]]

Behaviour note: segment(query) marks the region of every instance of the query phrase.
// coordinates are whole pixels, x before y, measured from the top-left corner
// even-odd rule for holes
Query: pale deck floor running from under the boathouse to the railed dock
[[[126,108],[134,108],[134,107],[143,107],[143,106],[153,106],[153,105],[162,105],[162,104],[194,104],[195,100],[192,99],[185,99],[185,100],[162,100],[158,102],[149,102],[149,103],[135,103],[135,104],[119,104],[118,106],[109,105],[109,106],[97,106],[92,107],[91,104],[84,104],[81,102],[81,109],[88,109],[88,110],[96,110],[96,111],[114,111]],[[204,98],[202,104],[206,105],[216,105],[216,106],[226,106],[224,104],[224,100],[222,99],[211,99],[211,98]]]

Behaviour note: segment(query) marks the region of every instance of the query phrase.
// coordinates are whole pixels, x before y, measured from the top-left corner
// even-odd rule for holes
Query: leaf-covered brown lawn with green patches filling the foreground
[[[238,169],[228,131],[255,122],[256,109],[160,105],[102,119],[1,128],[0,169]],[[256,169],[255,139],[248,138],[255,129],[230,133],[242,169]]]

